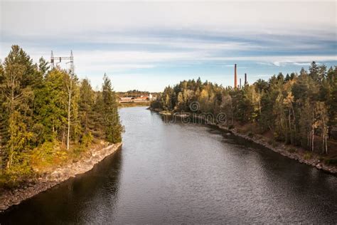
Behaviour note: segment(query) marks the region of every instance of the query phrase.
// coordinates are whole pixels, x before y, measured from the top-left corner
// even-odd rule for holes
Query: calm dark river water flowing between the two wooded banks
[[[337,223],[337,177],[212,127],[123,108],[123,147],[0,224]]]

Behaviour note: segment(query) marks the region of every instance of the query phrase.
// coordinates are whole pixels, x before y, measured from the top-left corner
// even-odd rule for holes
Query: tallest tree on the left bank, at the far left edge
[[[33,137],[33,88],[41,83],[31,58],[18,46],[12,46],[4,61],[2,77],[3,110],[6,116],[6,167],[20,166],[21,152],[30,148]]]

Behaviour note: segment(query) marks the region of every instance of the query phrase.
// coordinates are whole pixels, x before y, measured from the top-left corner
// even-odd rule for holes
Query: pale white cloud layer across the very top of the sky
[[[86,32],[140,30],[201,30],[244,35],[320,33],[317,31],[328,28],[332,31],[336,28],[336,3],[333,1],[305,4],[301,1],[1,1],[1,30],[18,36],[74,37],[87,35]]]

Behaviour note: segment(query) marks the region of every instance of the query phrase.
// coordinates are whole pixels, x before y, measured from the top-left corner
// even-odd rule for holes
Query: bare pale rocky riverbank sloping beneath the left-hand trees
[[[105,159],[105,157],[112,155],[121,146],[122,143],[117,143],[100,149],[94,148],[76,162],[73,161],[62,167],[58,167],[53,172],[41,174],[37,179],[30,179],[16,189],[4,189],[0,193],[0,211],[19,204],[23,200],[44,192],[71,177],[90,171],[95,164]]]

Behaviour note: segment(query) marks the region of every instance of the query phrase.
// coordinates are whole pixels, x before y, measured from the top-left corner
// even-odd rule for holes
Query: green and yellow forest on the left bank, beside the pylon
[[[33,63],[16,45],[0,62],[0,106],[0,184],[73,159],[95,143],[122,141],[107,75],[95,91],[71,70],[50,69],[43,58]]]

